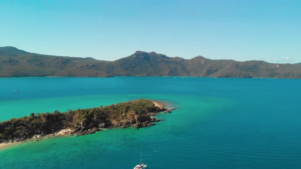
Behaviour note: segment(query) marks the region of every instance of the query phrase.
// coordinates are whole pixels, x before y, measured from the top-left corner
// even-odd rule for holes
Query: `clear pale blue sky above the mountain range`
[[[299,0],[2,0],[0,31],[0,46],[98,60],[142,50],[301,62]]]

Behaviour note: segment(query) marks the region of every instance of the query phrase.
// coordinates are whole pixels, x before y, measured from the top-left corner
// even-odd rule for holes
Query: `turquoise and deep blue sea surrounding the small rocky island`
[[[14,92],[18,89],[19,92]],[[301,80],[0,78],[0,121],[139,98],[179,107],[148,128],[0,149],[0,168],[301,168]]]

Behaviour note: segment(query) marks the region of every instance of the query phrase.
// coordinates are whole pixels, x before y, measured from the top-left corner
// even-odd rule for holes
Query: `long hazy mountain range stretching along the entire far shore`
[[[271,64],[264,61],[237,62],[170,58],[155,52],[136,51],[116,61],[44,55],[0,47],[0,77],[28,76],[200,76],[301,78],[301,64]]]

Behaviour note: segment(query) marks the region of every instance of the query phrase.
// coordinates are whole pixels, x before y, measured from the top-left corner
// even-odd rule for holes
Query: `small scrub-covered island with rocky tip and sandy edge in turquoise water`
[[[95,133],[104,128],[147,127],[155,113],[168,111],[160,102],[139,99],[95,108],[30,114],[0,123],[0,143],[22,142],[46,136]],[[168,111],[170,112],[170,110]]]

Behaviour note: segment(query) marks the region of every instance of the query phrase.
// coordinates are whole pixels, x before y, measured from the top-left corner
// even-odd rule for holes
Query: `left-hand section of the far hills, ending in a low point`
[[[6,54],[6,55],[4,55]],[[14,47],[0,48],[0,76],[77,76],[77,77],[111,77],[112,75],[97,71],[89,65],[96,60],[91,58],[57,57],[29,53]],[[101,61],[96,61],[101,62]],[[87,66],[88,65],[88,66]]]

